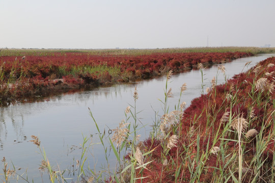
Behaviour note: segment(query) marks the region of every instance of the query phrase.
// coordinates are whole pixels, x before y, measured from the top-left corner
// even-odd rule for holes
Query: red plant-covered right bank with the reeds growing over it
[[[194,99],[171,129],[179,134],[177,148],[152,157],[144,182],[275,181],[274,64],[268,58],[223,85],[213,82]],[[163,160],[170,163],[164,166]]]

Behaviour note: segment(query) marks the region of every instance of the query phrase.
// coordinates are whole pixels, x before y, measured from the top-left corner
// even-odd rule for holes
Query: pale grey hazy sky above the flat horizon
[[[0,0],[0,48],[275,47],[274,0]]]

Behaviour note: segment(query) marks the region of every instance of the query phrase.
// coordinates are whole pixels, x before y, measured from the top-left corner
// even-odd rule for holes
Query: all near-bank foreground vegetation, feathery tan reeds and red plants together
[[[275,57],[268,58],[223,85],[213,80],[206,94],[186,109],[179,99],[174,111],[167,105],[173,97],[168,82],[173,77],[168,72],[161,101],[163,115],[156,117],[153,131],[144,141],[137,139],[144,128],[135,107],[137,89],[134,105],[127,107],[119,127],[111,130],[112,137],[99,129],[90,111],[107,166],[101,171],[89,167],[89,147],[95,144],[87,146],[84,138],[76,182],[274,182],[274,64]],[[201,72],[203,75],[203,68]],[[180,96],[185,90],[183,84]],[[33,142],[40,148],[37,137]],[[51,182],[67,181],[68,170],[53,170],[40,151]],[[109,169],[110,153],[116,158],[115,170]]]

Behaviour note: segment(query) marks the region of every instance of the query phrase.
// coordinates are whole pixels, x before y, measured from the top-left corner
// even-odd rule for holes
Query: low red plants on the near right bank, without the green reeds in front
[[[160,157],[163,158],[163,156],[161,156],[163,155],[163,150],[156,149],[155,152],[152,153],[150,160],[148,160],[153,160],[153,162],[147,166],[149,170],[143,171],[142,176],[148,176],[143,182],[175,182],[175,173],[179,168],[180,178],[178,181],[190,182],[191,163],[195,163],[193,169],[195,172],[199,165],[196,163],[196,156],[199,155],[199,157],[201,157],[205,155],[213,146],[223,147],[224,156],[232,156],[233,152],[238,153],[238,133],[237,130],[233,129],[229,124],[230,115],[231,121],[242,117],[248,122],[248,127],[243,130],[243,134],[241,135],[244,157],[243,171],[252,163],[251,161],[255,156],[260,156],[260,159],[265,160],[263,166],[271,167],[270,164],[274,161],[273,154],[275,150],[273,137],[269,136],[274,133],[274,70],[275,57],[267,58],[248,72],[235,75],[232,79],[229,79],[226,84],[215,86],[208,94],[194,99],[191,105],[184,111],[181,119],[180,129],[182,130],[179,132],[178,148],[171,149],[168,154],[169,156],[167,156],[168,161],[171,162],[171,160],[173,160],[173,168],[171,164],[163,166],[163,160],[161,161],[160,159]],[[262,78],[264,78],[264,82],[258,82],[259,79]],[[259,83],[263,86],[257,86]],[[229,127],[229,129],[226,130],[226,133],[222,134],[225,127]],[[263,127],[264,129],[262,129]],[[196,129],[192,135],[190,134],[190,128]],[[245,137],[246,132],[251,129],[256,129],[258,132],[263,130],[262,135],[257,136],[257,138],[260,139],[256,140],[257,138],[255,136]],[[218,140],[213,144],[216,134]],[[226,141],[219,138],[229,140]],[[256,149],[256,143],[259,143],[259,140],[262,140],[262,143],[266,143],[263,151],[257,151]],[[151,140],[144,142],[145,148],[148,148],[148,150],[161,146],[161,141],[155,141],[154,143],[156,144],[150,142]],[[186,150],[186,148],[188,148],[188,150]],[[198,149],[200,150],[198,151]],[[200,182],[213,181],[213,174],[219,174],[219,171],[215,168],[223,169],[227,161],[229,161],[229,158],[225,159],[225,162],[221,161],[221,153],[219,153],[219,155],[209,154],[203,163],[204,170],[207,171],[203,171],[200,178],[198,179],[197,177],[197,180]],[[256,153],[258,154],[256,155]],[[177,155],[180,155],[180,157]],[[217,158],[219,158],[218,161]],[[234,170],[234,167],[238,168],[238,155],[233,160],[232,163],[226,165],[226,171],[228,171],[228,167],[233,168],[231,170],[235,171],[236,173],[234,173],[234,175],[238,177],[238,171],[236,169]],[[202,163],[200,159],[199,163]],[[254,163],[252,164],[254,165]],[[266,171],[267,172],[261,172],[260,174],[261,179],[268,181],[270,169],[268,168]],[[243,173],[242,182],[250,182],[251,177],[254,177],[253,171],[248,170]],[[233,182],[232,178],[229,181]]]

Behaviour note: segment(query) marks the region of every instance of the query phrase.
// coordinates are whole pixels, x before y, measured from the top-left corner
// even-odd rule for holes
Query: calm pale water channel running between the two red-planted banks
[[[231,78],[234,74],[246,71],[255,66],[261,60],[275,56],[275,54],[264,54],[253,57],[236,59],[231,63],[222,64],[226,66],[226,77]],[[252,62],[244,67],[245,63]],[[217,76],[217,82],[225,81],[223,73],[217,75],[217,66],[204,69],[204,90],[210,86],[213,76]],[[181,98],[187,105],[191,100],[199,97],[202,92],[201,72],[191,70],[186,73],[173,75],[169,88],[172,87],[174,98],[170,98],[170,109],[178,103],[180,87],[187,84],[187,90]],[[71,167],[73,159],[80,159],[80,143],[83,136],[93,135],[93,143],[98,142],[97,130],[89,115],[88,107],[91,109],[99,128],[115,129],[120,121],[125,118],[124,110],[133,105],[133,92],[137,87],[139,99],[136,108],[141,111],[137,117],[146,127],[139,134],[142,139],[148,137],[151,125],[155,120],[155,113],[163,114],[161,103],[158,99],[164,99],[163,89],[166,77],[117,84],[111,87],[101,87],[86,92],[75,94],[64,94],[49,98],[44,102],[24,103],[11,105],[0,109],[0,158],[5,157],[12,167],[11,161],[19,172],[27,170],[29,179],[35,182],[41,181],[38,171],[42,156],[39,149],[30,142],[31,135],[36,135],[41,140],[41,146],[45,148],[47,158],[51,165],[57,164],[61,169]],[[171,111],[170,110],[170,111]],[[97,161],[97,170],[104,164],[103,148],[96,144],[91,149],[88,161],[93,166]],[[112,159],[112,158],[111,158]],[[111,161],[112,162],[112,161]],[[1,165],[3,167],[3,163]],[[113,166],[113,165],[111,165]],[[3,173],[1,171],[1,173]],[[0,174],[1,174],[0,173]],[[2,179],[4,177],[1,177]],[[45,178],[47,180],[47,177]]]

